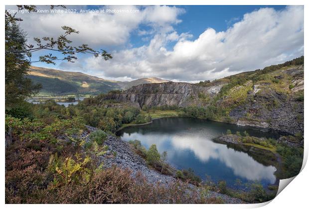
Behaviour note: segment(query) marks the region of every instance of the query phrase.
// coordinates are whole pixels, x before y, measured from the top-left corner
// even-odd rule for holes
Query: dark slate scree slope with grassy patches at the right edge
[[[282,83],[281,88],[264,81],[253,85],[247,101],[233,108],[229,115],[238,125],[303,134],[304,100],[300,95],[304,90],[304,66],[279,70],[273,77]]]

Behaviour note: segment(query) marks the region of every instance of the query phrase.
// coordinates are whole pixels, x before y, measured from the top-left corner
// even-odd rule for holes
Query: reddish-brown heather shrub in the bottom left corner
[[[53,148],[37,140],[16,140],[5,150],[6,204],[31,203],[40,198],[38,192],[52,180],[44,170]]]

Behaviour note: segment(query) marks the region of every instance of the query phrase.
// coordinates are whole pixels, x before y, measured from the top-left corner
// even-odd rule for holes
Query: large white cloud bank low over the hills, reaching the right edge
[[[156,20],[151,15],[146,19]],[[197,39],[189,37],[174,30],[157,31],[148,45],[113,51],[114,59],[107,62],[88,58],[86,66],[101,77],[156,76],[179,81],[215,79],[263,68],[304,54],[304,6],[278,11],[261,8],[245,14],[226,31],[207,28]],[[171,41],[177,42],[167,50]]]

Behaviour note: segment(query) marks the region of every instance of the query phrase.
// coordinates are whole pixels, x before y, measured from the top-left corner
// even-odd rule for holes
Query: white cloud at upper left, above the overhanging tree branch
[[[49,8],[48,6],[39,6]],[[6,8],[15,8],[6,6]],[[56,7],[58,8],[58,7]],[[85,9],[84,6],[68,6],[68,8]],[[102,9],[128,9],[140,12],[119,13],[24,13],[19,16],[24,20],[20,26],[27,31],[29,37],[52,36],[61,34],[61,26],[67,25],[80,33],[73,34],[70,39],[75,44],[88,43],[98,46],[121,45],[127,43],[130,33],[139,24],[149,24],[155,29],[170,31],[170,24],[180,22],[177,16],[183,9],[174,6],[103,6]]]

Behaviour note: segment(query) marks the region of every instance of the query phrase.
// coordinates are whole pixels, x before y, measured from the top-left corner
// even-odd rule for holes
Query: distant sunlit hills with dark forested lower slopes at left
[[[168,80],[160,78],[140,78],[133,81],[113,81],[87,75],[81,72],[69,72],[51,68],[31,66],[29,77],[34,83],[41,83],[41,93],[53,95],[107,93],[111,90],[128,89],[144,83],[162,83]]]

